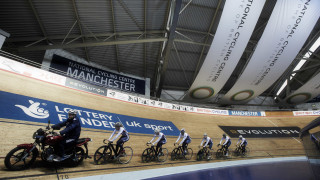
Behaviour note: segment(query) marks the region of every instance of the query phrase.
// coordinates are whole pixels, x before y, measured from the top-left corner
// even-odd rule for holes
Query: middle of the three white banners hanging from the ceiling
[[[319,19],[319,7],[318,0],[277,1],[246,69],[220,103],[244,104],[268,89],[299,53]]]

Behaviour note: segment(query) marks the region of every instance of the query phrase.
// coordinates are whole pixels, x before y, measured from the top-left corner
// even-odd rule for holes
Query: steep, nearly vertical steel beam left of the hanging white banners
[[[174,11],[173,11],[173,15],[172,15],[172,21],[171,21],[171,26],[168,32],[168,41],[165,47],[165,55],[164,55],[164,62],[163,62],[163,67],[161,69],[161,74],[160,74],[160,82],[159,82],[159,86],[157,89],[157,97],[160,98],[161,96],[161,91],[162,91],[162,87],[165,81],[165,73],[168,67],[168,63],[169,63],[169,58],[170,58],[170,53],[171,53],[171,48],[174,42],[174,37],[175,37],[175,31],[177,28],[177,24],[178,24],[178,19],[179,19],[179,12],[181,9],[181,4],[182,4],[182,0],[176,0],[175,1],[175,7],[174,7]],[[171,6],[172,7],[172,6]],[[170,19],[170,18],[168,18]]]

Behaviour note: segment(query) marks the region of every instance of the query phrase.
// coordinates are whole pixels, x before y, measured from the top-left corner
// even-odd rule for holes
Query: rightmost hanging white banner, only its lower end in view
[[[298,104],[309,101],[320,94],[320,73],[289,95],[285,101],[288,104]]]

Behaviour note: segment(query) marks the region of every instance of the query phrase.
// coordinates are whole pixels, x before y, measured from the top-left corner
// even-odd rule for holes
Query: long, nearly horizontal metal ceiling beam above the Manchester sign
[[[57,44],[57,45],[40,45],[31,47],[20,47],[18,51],[40,51],[46,49],[68,49],[78,47],[94,47],[94,46],[110,46],[119,44],[135,44],[135,43],[149,43],[149,42],[163,42],[167,41],[167,38],[148,38],[148,39],[134,39],[134,40],[118,40],[107,42],[86,42],[86,43],[73,43],[73,44]]]

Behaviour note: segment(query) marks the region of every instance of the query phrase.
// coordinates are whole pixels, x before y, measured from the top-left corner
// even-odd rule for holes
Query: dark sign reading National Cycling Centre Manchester
[[[65,72],[70,77],[93,84],[101,84],[106,88],[145,95],[145,80],[94,68],[55,54],[52,56],[50,64],[50,71],[54,72],[52,68]]]

